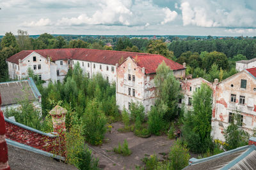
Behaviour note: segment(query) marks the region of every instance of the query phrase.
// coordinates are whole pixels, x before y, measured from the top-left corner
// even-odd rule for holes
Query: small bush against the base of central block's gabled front
[[[145,122],[145,112],[144,106],[140,103],[131,103],[131,120],[132,122],[136,121],[136,118],[140,119],[140,122]]]

